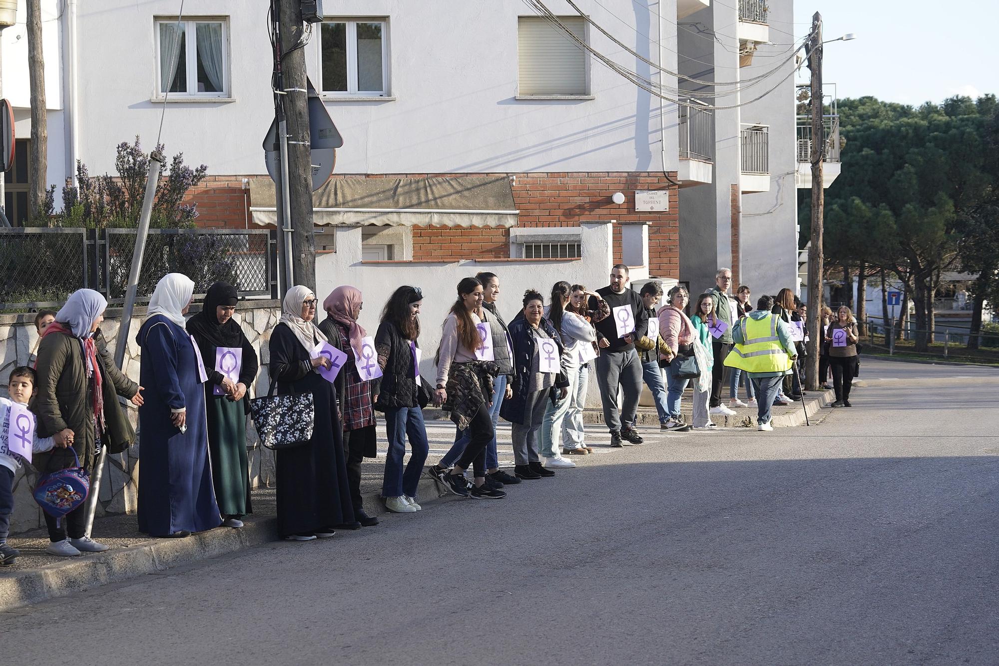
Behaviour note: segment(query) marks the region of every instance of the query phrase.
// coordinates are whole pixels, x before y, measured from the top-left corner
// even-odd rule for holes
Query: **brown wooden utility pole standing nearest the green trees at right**
[[[818,389],[818,350],[822,344],[822,214],[825,207],[825,190],[822,188],[822,167],[825,161],[825,125],[822,118],[822,15],[812,16],[812,34],[808,50],[808,69],[811,70],[811,150],[812,163],[812,219],[811,246],[808,248],[808,364],[805,384],[809,391]]]

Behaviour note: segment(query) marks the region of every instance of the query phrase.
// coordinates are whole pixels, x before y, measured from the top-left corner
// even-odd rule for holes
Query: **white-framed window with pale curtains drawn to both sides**
[[[157,93],[163,97],[229,97],[229,21],[156,21]]]

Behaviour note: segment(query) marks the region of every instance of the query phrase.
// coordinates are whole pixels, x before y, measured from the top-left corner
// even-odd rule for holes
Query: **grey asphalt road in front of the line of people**
[[[999,372],[863,372],[811,428],[653,435],[0,613],[0,662],[999,663]]]

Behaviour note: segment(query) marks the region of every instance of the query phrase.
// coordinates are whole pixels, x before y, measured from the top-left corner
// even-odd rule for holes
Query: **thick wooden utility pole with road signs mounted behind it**
[[[306,52],[302,48],[300,0],[278,0],[281,71],[288,122],[288,189],[292,214],[292,266],[295,282],[316,289],[316,236],[313,230],[312,147],[309,140],[309,93]],[[291,286],[291,285],[289,285]]]

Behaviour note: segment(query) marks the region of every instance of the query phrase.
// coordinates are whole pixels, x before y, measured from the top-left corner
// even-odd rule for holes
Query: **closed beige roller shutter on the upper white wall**
[[[560,17],[585,41],[582,17]],[[519,95],[585,95],[586,53],[546,19],[521,16],[517,25]]]

